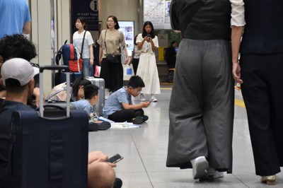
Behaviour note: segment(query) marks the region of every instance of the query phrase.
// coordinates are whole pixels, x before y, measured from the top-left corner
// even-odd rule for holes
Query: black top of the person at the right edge
[[[244,0],[246,26],[240,52],[273,54],[283,52],[283,1]]]

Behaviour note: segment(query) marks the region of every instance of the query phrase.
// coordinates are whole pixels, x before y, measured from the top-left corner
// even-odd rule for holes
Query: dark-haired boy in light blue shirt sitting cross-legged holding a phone
[[[149,117],[144,115],[143,107],[149,107],[151,102],[141,102],[138,105],[132,104],[132,96],[137,97],[144,87],[144,81],[139,76],[129,78],[127,87],[120,88],[112,93],[106,100],[103,107],[103,117],[114,122],[133,122],[141,124]]]

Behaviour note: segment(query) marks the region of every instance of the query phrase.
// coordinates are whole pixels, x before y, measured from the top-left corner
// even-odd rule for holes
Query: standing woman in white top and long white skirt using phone
[[[154,35],[154,25],[150,21],[144,23],[142,33],[137,37],[137,45],[141,50],[137,75],[144,81],[140,100],[145,101],[144,94],[150,94],[151,100],[157,102],[155,94],[160,94],[160,83],[156,66],[155,51],[158,48],[158,37]]]

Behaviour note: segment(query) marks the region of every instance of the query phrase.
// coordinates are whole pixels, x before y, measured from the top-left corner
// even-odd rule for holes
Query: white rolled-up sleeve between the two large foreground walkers
[[[245,7],[243,0],[230,0],[232,13],[231,25],[243,26],[246,25],[245,21]]]

